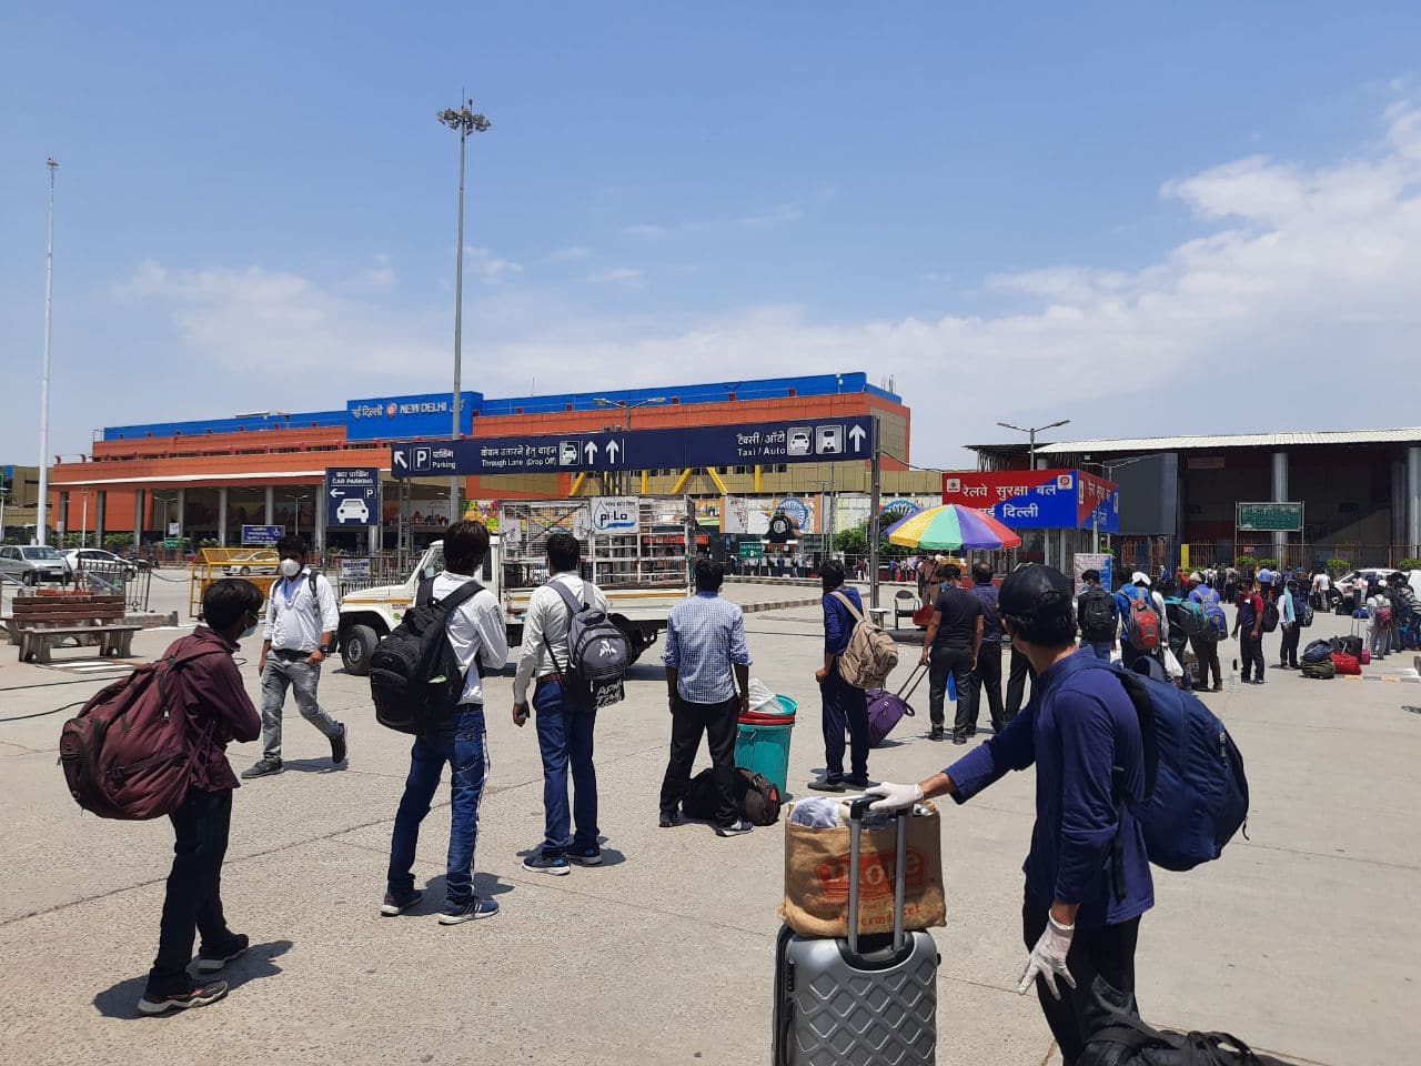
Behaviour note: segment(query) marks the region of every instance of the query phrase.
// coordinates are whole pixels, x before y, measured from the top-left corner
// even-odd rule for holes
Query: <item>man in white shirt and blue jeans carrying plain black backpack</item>
[[[433,597],[443,598],[475,574],[489,554],[489,530],[480,522],[456,522],[443,540],[445,571],[433,581]],[[489,770],[489,748],[483,722],[483,679],[486,671],[503,669],[509,657],[503,610],[487,588],[480,588],[449,615],[449,644],[463,671],[463,695],[458,712],[436,733],[415,738],[409,752],[409,777],[395,814],[389,843],[389,874],[385,901],[379,912],[387,918],[414,907],[421,900],[415,891],[415,847],[419,823],[429,813],[429,803],[439,787],[439,776],[449,763],[449,866],[445,881],[445,907],[441,925],[459,925],[499,912],[499,904],[473,894],[473,849],[479,840],[479,802]]]

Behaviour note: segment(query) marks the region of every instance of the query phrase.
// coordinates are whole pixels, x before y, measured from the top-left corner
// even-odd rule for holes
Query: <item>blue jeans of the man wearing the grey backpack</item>
[[[593,726],[597,708],[567,709],[563,688],[544,681],[533,692],[537,746],[543,755],[543,854],[566,854],[573,822],[573,847],[597,847],[597,769],[593,766]],[[573,807],[567,806],[567,770],[573,770]]]

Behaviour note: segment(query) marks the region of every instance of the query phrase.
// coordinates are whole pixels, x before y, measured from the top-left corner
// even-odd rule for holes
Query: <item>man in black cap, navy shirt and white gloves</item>
[[[1074,1066],[1110,1011],[1137,1009],[1135,938],[1154,905],[1144,834],[1125,803],[1144,793],[1140,719],[1110,667],[1079,654],[1071,593],[1049,566],[1010,574],[998,604],[1003,631],[1036,671],[1030,702],[942,773],[868,789],[880,797],[875,812],[925,796],[965,803],[1007,770],[1036,766],[1022,905],[1030,955],[1017,991],[1036,985],[1064,1066]]]

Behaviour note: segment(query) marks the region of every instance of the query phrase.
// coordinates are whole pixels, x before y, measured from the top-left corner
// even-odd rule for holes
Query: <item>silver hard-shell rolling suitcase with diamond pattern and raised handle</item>
[[[774,1066],[931,1066],[938,1049],[938,948],[904,932],[908,819],[897,819],[892,935],[858,935],[860,843],[872,800],[850,809],[848,938],[780,930],[774,961]]]

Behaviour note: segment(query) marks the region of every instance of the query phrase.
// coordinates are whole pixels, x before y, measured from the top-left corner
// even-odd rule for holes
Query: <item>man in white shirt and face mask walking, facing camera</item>
[[[242,772],[244,779],[280,773],[281,706],[287,688],[296,689],[301,718],[331,742],[331,763],[345,762],[345,726],[321,709],[315,689],[321,662],[335,642],[340,607],[324,574],[306,566],[306,540],[283,537],[276,546],[281,556],[281,580],[267,597],[264,642],[257,674],[261,677],[261,760]]]

